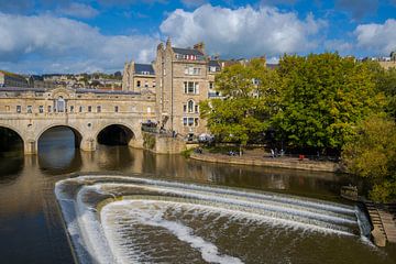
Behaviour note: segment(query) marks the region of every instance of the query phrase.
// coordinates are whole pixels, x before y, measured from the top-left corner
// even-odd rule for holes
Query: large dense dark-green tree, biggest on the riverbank
[[[292,148],[337,154],[355,123],[382,107],[374,74],[354,58],[286,55],[278,74],[280,110],[272,121]]]

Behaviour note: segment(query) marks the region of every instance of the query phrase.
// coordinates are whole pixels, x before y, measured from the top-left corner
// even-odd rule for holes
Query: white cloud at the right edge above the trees
[[[396,50],[396,20],[388,19],[384,24],[361,24],[354,31],[358,46],[376,55],[389,55]]]

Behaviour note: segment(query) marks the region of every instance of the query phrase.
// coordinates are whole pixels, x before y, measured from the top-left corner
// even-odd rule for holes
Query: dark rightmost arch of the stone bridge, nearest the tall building
[[[106,123],[97,130],[95,139],[99,144],[133,145],[136,129],[122,122]]]

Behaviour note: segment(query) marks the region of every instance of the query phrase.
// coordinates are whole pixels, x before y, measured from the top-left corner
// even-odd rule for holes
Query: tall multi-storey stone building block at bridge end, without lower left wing
[[[170,40],[157,46],[156,116],[161,128],[188,139],[206,133],[206,121],[199,117],[199,102],[215,92],[215,74],[220,65],[205,53],[204,43],[193,48],[173,47]],[[216,94],[213,94],[216,95]]]

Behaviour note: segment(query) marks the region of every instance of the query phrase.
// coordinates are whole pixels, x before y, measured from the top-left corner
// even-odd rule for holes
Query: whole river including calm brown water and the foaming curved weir
[[[86,234],[77,237],[85,242],[74,244],[87,262],[396,260],[395,246],[377,249],[360,235],[355,205],[339,198],[340,186],[351,180],[346,176],[208,164],[127,146],[100,145],[85,153],[74,148],[73,133],[65,129],[44,134],[38,152],[1,155],[0,263],[73,263],[54,194],[59,180],[58,195],[69,195],[84,211],[79,232]],[[101,176],[68,179],[74,173]],[[127,198],[102,208],[98,237],[89,231],[98,222],[89,218],[98,215],[90,206],[114,194]],[[101,246],[112,254],[97,252]]]

